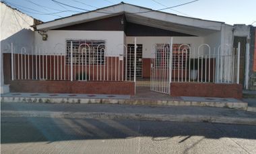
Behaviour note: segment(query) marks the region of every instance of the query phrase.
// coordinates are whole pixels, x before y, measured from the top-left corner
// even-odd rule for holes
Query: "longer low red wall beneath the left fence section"
[[[11,92],[135,94],[134,82],[13,80],[9,84]]]

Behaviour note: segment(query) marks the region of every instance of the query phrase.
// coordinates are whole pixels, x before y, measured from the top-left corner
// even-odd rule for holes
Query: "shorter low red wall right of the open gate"
[[[241,99],[243,95],[242,90],[242,84],[214,84],[192,82],[172,82],[170,84],[171,96],[202,96]]]

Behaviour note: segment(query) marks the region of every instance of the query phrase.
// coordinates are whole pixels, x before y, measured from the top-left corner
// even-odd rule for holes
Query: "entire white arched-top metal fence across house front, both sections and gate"
[[[104,43],[104,41],[102,41]],[[120,44],[118,54],[99,42],[65,46],[62,52],[36,48],[14,50],[11,44],[12,80],[136,81],[139,69],[135,38],[132,46]],[[93,44],[93,45],[92,45]],[[137,50],[139,52],[137,52]],[[141,51],[140,51],[141,50]],[[63,52],[65,51],[65,52]],[[172,52],[170,52],[172,51]],[[62,54],[60,54],[62,53]],[[142,58],[142,57],[141,57]],[[240,43],[210,48],[201,44],[156,44],[151,58],[151,90],[168,93],[170,82],[239,83]],[[135,75],[136,74],[136,75]]]

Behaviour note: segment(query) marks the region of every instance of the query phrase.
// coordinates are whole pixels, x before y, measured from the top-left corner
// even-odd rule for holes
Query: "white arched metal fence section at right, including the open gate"
[[[169,93],[170,82],[239,83],[240,48],[201,44],[156,44],[151,58],[151,90]],[[172,51],[172,52],[170,52]]]

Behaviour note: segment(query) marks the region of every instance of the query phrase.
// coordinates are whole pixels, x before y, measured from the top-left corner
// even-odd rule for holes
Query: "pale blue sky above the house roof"
[[[6,1],[11,7],[41,21],[51,21],[75,13],[84,12],[82,9],[94,10],[109,5],[121,3],[119,0],[1,0]],[[56,3],[65,3],[75,9]],[[193,0],[123,0],[125,3],[163,9],[180,5]],[[223,21],[230,25],[246,24],[256,26],[256,0],[199,0],[187,5],[166,9],[168,13],[195,17],[213,21]],[[51,14],[51,15],[49,15]]]

